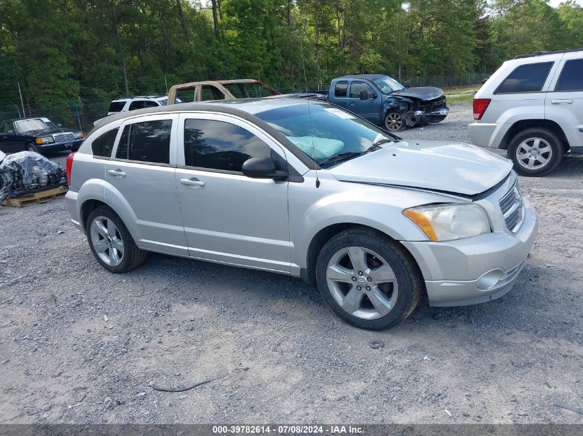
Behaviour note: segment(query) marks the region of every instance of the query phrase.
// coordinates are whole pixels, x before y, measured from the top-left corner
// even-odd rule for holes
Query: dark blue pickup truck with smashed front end
[[[391,132],[439,123],[449,112],[442,89],[407,87],[382,74],[337,77],[328,101]]]

